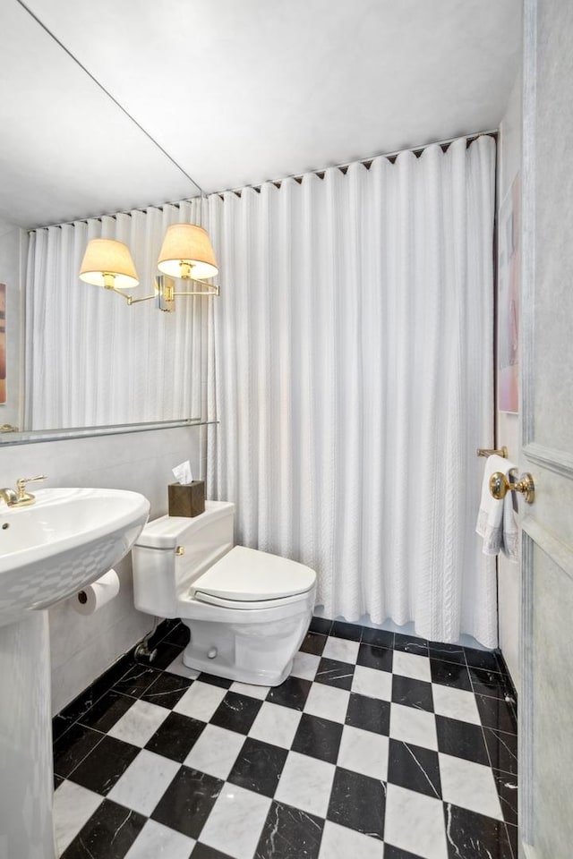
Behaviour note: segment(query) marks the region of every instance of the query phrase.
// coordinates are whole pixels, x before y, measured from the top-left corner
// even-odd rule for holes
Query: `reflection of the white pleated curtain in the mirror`
[[[67,429],[201,415],[201,299],[174,313],[133,304],[78,278],[87,242],[128,244],[153,292],[167,226],[199,223],[199,200],[38,229],[26,282],[26,429]],[[182,288],[182,287],[180,287]]]

